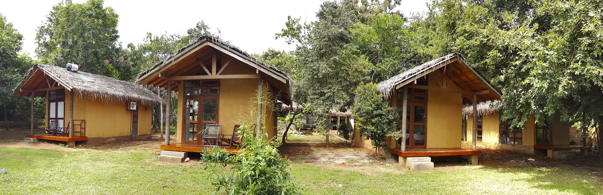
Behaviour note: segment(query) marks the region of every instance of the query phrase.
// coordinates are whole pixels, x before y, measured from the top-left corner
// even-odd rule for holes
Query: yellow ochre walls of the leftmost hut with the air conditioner
[[[65,127],[69,124],[69,91],[65,91]],[[86,137],[116,137],[131,134],[131,112],[126,102],[106,102],[74,94],[74,120],[86,120]],[[138,105],[138,135],[151,131],[151,105]],[[46,94],[46,119],[48,119],[48,93]],[[148,110],[145,110],[148,107]],[[76,123],[77,124],[77,123]],[[48,120],[46,120],[48,125]],[[77,127],[75,127],[77,130]]]

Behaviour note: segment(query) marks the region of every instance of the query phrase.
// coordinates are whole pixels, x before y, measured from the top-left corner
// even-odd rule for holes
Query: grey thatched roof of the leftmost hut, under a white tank
[[[94,82],[85,81],[78,76],[77,73],[92,79]],[[69,72],[64,67],[35,64],[27,71],[27,75],[22,79],[21,83],[14,88],[13,95],[29,95],[30,92],[24,92],[21,91],[21,89],[36,89],[31,86],[36,86],[37,83],[27,84],[27,82],[36,82],[31,79],[34,77],[34,74],[37,77],[45,74],[57,81],[67,90],[71,91],[72,89],[75,89],[75,94],[80,95],[80,97],[85,96],[86,98],[99,99],[104,102],[136,101],[142,104],[151,104],[160,101],[157,94],[154,94],[142,85],[87,72],[78,71],[77,73]],[[42,82],[42,86],[48,86],[46,81]]]

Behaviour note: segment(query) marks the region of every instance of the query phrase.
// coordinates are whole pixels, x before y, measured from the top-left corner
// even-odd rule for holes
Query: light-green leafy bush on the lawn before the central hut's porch
[[[219,147],[204,149],[201,161],[205,169],[212,171],[212,185],[216,193],[226,194],[299,194],[291,181],[289,160],[277,150],[280,143],[262,137],[254,137],[247,125],[239,131],[244,139],[244,149],[229,155]],[[231,164],[230,173],[216,169]]]

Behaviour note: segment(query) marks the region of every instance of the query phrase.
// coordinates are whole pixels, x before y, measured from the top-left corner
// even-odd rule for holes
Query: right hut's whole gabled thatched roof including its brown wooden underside
[[[454,84],[458,90],[469,92],[471,94],[478,91],[487,91],[488,93],[478,94],[478,101],[495,101],[500,99],[502,92],[484,78],[481,73],[467,65],[467,59],[459,53],[452,53],[435,60],[428,61],[421,65],[415,66],[412,69],[406,70],[399,75],[379,82],[377,88],[384,95],[384,98],[391,98],[394,90],[400,87],[411,85],[413,81],[427,76],[429,73],[438,72],[446,76],[450,84]],[[441,87],[447,88],[447,87]],[[465,103],[472,102],[472,96],[463,98]]]

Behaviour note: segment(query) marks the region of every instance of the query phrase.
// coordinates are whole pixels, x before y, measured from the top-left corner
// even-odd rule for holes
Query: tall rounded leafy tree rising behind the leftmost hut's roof
[[[60,2],[37,30],[37,57],[42,63],[75,63],[86,72],[112,76],[112,68],[122,65],[118,17],[112,7],[103,7],[103,0]]]

